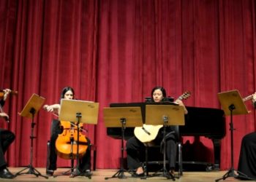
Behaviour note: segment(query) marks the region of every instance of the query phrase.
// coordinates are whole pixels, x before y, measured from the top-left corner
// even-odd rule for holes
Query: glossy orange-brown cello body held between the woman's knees
[[[64,130],[61,134],[59,134],[56,140],[56,151],[59,157],[63,159],[76,159],[77,154],[80,159],[81,157],[83,157],[84,154],[86,154],[88,142],[86,139],[86,135],[83,135],[80,131],[78,136],[78,126],[71,123],[72,122],[61,121],[61,126]],[[82,123],[79,124],[79,130],[81,126],[83,126]]]

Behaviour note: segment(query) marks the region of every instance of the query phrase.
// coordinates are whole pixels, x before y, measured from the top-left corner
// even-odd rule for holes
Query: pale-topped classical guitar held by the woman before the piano
[[[189,98],[191,93],[189,91],[184,92],[181,96],[178,97],[178,100],[184,100]],[[148,143],[153,141],[157,134],[162,128],[161,125],[151,125],[151,124],[143,124],[143,127],[135,127],[134,134],[135,137],[139,139],[142,143]]]

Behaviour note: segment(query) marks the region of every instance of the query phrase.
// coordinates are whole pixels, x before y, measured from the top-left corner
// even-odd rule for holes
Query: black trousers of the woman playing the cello
[[[49,154],[49,165],[48,170],[56,170],[57,169],[57,152],[56,152],[56,140],[63,132],[63,129],[60,126],[60,122],[57,119],[53,119],[51,124],[51,131],[50,131],[50,154]],[[88,142],[88,148],[86,149],[86,154],[80,159],[79,162],[79,169],[80,171],[86,171],[91,169],[91,145],[89,138],[86,138]]]

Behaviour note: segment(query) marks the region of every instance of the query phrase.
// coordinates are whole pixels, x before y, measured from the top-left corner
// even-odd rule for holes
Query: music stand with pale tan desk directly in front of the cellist
[[[77,165],[76,170],[79,171],[79,132],[80,132],[80,123],[85,124],[97,124],[98,121],[98,113],[99,113],[99,103],[94,103],[91,101],[85,100],[69,100],[69,99],[61,99],[61,108],[59,114],[59,120],[72,122],[76,121],[76,126],[78,130],[78,141],[73,143],[73,146],[76,145],[77,148]],[[73,154],[72,154],[73,156]],[[72,169],[71,169],[72,170]],[[72,177],[75,177],[74,175]],[[91,175],[87,176],[91,179]]]

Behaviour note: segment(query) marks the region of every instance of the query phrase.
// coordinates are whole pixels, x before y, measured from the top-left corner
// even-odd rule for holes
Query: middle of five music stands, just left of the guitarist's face
[[[103,109],[106,127],[121,127],[121,168],[109,178],[127,178],[124,175],[124,130],[125,127],[141,127],[143,125],[140,107],[116,107]]]

